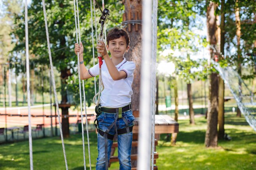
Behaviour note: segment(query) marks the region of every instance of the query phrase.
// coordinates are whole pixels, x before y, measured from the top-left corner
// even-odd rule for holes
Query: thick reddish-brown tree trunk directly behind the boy
[[[123,21],[141,20],[141,0],[123,0]],[[141,70],[141,24],[127,24],[126,30],[130,35],[130,49],[125,57],[128,61],[135,62],[134,79],[132,82],[132,113],[139,117],[139,95],[140,95],[140,70]],[[132,147],[131,154],[137,154],[137,147]],[[137,161],[131,161],[132,167],[137,167]]]

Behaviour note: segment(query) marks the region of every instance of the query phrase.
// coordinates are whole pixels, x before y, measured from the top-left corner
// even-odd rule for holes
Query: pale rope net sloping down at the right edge
[[[249,90],[243,79],[233,68],[222,68],[217,62],[214,62],[214,67],[219,71],[220,76],[236,99],[238,108],[245,116],[246,121],[256,131],[256,111],[252,109],[256,106],[254,93]]]

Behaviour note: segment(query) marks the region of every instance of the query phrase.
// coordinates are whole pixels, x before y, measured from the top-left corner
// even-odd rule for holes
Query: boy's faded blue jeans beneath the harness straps
[[[97,118],[99,121],[99,128],[104,132],[108,129],[108,127],[115,121],[117,113],[104,113]],[[132,126],[134,121],[134,116],[132,115],[132,111],[128,110],[122,113],[122,117],[124,117],[129,126]],[[117,129],[126,128],[126,124],[123,119],[117,119],[116,123]],[[110,129],[110,134],[114,135],[116,132],[115,126]],[[132,132],[128,132],[122,135],[117,135],[117,143],[118,143],[118,159],[120,168],[119,170],[131,170],[131,149],[132,149]],[[108,161],[110,159],[111,146],[113,141],[108,139]],[[96,163],[96,170],[105,170],[105,141],[104,137],[102,137],[98,133],[98,158]]]

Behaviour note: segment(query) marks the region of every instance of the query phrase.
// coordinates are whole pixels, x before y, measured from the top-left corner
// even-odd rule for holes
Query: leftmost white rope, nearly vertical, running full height
[[[32,149],[32,130],[31,130],[31,113],[30,113],[30,75],[29,75],[29,34],[27,20],[27,0],[25,0],[25,43],[26,43],[26,70],[27,70],[27,106],[29,114],[29,160],[30,170],[33,170],[33,149]]]

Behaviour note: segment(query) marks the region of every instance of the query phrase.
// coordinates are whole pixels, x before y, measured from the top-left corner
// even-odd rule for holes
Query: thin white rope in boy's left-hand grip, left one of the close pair
[[[76,9],[77,7],[77,9]],[[75,25],[76,25],[76,42],[79,43],[79,46],[80,46],[80,38],[79,38],[79,42],[78,42],[78,33],[77,33],[77,30],[78,28],[77,27],[80,27],[80,26],[77,26],[77,22],[79,23],[79,20],[78,20],[78,17],[76,17],[76,12],[77,12],[77,15],[79,15],[79,12],[78,12],[78,2],[74,0],[74,17],[75,17]],[[80,32],[80,29],[79,29],[79,32]],[[79,33],[80,35],[80,33]],[[84,132],[83,132],[83,104],[82,104],[82,95],[81,95],[81,77],[80,77],[80,63],[79,63],[79,52],[77,53],[77,65],[78,65],[78,77],[79,77],[79,96],[80,96],[80,112],[81,112],[81,125],[82,125],[82,140],[83,140],[83,166],[84,166],[84,169],[86,170],[86,162],[85,162],[85,147],[84,147]],[[84,84],[83,84],[84,86]]]

